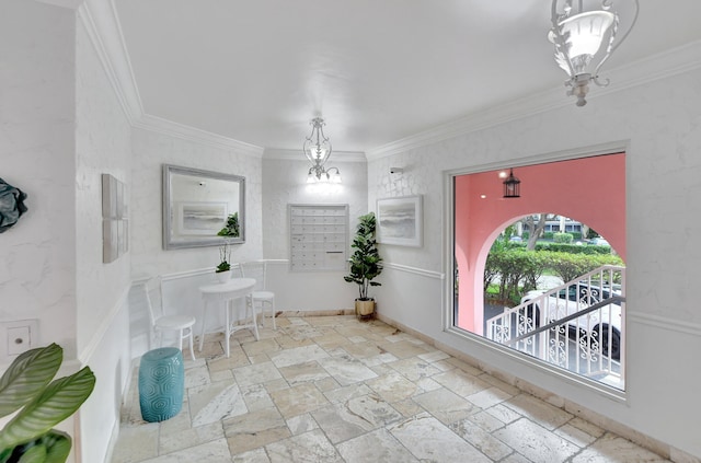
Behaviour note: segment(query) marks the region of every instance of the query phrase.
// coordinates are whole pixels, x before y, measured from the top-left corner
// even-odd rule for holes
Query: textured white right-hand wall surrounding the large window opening
[[[405,297],[416,287],[414,275],[388,270],[392,285],[379,289],[380,312],[496,369],[701,455],[696,425],[701,414],[697,393],[701,372],[689,368],[694,362],[689,352],[701,350],[701,312],[694,291],[701,218],[693,202],[701,195],[700,80],[701,71],[694,70],[605,97],[593,94],[583,108],[572,104],[369,162],[370,206],[378,197],[405,194],[422,194],[428,205],[424,247],[384,246],[388,262],[446,271],[451,256],[443,251],[443,171],[494,163],[507,166],[532,157],[629,140],[624,403],[444,332],[446,308],[438,304],[443,291],[434,290],[430,299],[436,303],[429,306],[420,304],[421,298],[413,302]],[[390,165],[403,166],[404,176],[409,172],[406,185],[395,187],[389,182]],[[522,185],[522,194],[527,192],[528,185]]]

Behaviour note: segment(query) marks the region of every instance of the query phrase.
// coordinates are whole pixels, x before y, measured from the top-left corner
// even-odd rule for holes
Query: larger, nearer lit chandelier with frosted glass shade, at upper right
[[[577,106],[587,104],[585,97],[590,81],[599,86],[609,84],[608,79],[599,80],[599,69],[637,20],[639,0],[627,1],[633,3],[635,12],[622,35],[618,11],[612,10],[613,0],[552,1],[552,28],[548,39],[555,46],[555,61],[570,76],[565,86],[568,96],[577,97]]]

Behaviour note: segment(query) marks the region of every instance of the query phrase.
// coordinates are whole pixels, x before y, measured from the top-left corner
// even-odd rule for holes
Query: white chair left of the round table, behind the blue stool
[[[180,349],[183,350],[183,340],[189,338],[189,355],[195,360],[193,326],[196,320],[192,315],[165,315],[162,286],[160,277],[150,278],[145,283],[146,303],[149,309],[151,327],[160,338],[159,346],[163,345],[163,332],[177,332]]]

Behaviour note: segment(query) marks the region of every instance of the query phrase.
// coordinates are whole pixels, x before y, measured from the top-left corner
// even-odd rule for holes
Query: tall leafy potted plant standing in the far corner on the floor
[[[358,227],[350,245],[355,251],[348,259],[350,271],[343,277],[358,286],[359,298],[355,300],[355,311],[360,316],[375,313],[375,300],[368,296],[368,289],[371,286],[380,286],[379,282],[372,281],[382,273],[382,257],[375,240],[376,227],[375,212],[358,218]]]

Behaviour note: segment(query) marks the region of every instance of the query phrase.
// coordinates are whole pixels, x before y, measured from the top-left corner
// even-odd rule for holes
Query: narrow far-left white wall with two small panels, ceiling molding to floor
[[[76,288],[79,359],[97,378],[80,408],[82,462],[105,458],[118,424],[129,374],[130,253],[102,262],[102,177],[108,173],[133,189],[129,123],[82,21],[76,25]],[[129,201],[130,202],[130,201]]]

